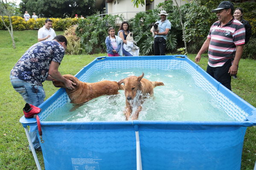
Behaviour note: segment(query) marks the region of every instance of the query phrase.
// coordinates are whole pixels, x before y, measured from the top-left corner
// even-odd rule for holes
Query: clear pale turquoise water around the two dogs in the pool
[[[88,82],[120,81],[130,75],[150,81],[162,81],[165,86],[154,88],[154,96],[147,97],[138,120],[144,121],[235,121],[217,101],[195,85],[184,70],[160,69],[103,69],[93,73]],[[101,96],[88,101],[74,111],[72,104],[56,109],[44,121],[125,121],[124,91],[111,96]]]

